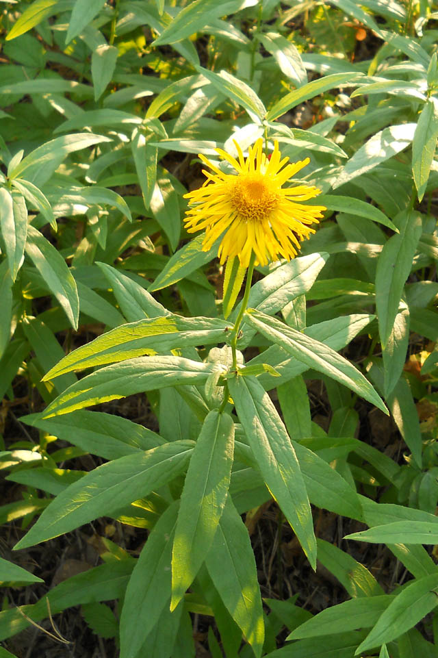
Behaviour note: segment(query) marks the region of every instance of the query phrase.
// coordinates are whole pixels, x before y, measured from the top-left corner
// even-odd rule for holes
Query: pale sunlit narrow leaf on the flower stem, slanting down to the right
[[[365,379],[355,366],[329,346],[292,329],[292,327],[287,327],[280,320],[270,318],[270,316],[253,309],[246,312],[246,322],[260,331],[263,336],[292,354],[298,361],[318,372],[324,372],[324,375],[344,384],[388,414],[385,404],[368,379]]]

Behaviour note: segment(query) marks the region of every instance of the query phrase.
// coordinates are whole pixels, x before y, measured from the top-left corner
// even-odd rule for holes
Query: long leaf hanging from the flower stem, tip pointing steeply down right
[[[313,568],[316,540],[305,482],[289,435],[270,396],[255,377],[229,379],[229,390],[263,480]]]

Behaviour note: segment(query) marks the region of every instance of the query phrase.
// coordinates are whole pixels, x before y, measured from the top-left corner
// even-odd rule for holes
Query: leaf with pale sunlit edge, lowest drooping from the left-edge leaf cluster
[[[57,301],[72,325],[77,329],[79,319],[79,297],[76,281],[62,255],[42,236],[40,231],[29,225],[27,233],[26,253],[34,262],[38,272],[53,292]]]

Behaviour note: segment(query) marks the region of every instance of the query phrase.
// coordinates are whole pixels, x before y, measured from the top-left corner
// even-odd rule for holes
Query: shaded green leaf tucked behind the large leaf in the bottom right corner
[[[301,624],[298,629],[287,636],[286,640],[330,635],[335,629],[339,633],[368,629],[374,626],[394,598],[395,596],[387,594],[361,596],[339,603],[339,605],[333,605]]]

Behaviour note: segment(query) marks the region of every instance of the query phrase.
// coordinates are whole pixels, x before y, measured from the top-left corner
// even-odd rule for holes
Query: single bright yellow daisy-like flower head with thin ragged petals
[[[309,225],[318,223],[326,210],[322,205],[300,203],[320,194],[318,188],[306,184],[283,188],[310,159],[286,164],[289,158],[281,159],[278,142],[274,142],[274,151],[268,158],[260,138],[248,149],[245,160],[239,144],[234,143],[238,162],[222,149],[216,151],[233,165],[237,175],[223,173],[207,157],[199,155],[212,173],[203,169],[207,176],[203,187],[184,195],[190,199],[185,227],[189,233],[205,229],[203,251],[211,249],[224,233],[218,251],[222,264],[237,256],[240,265],[247,268],[252,251],[260,265],[280,256],[291,260],[300,249],[300,241],[315,233]]]

